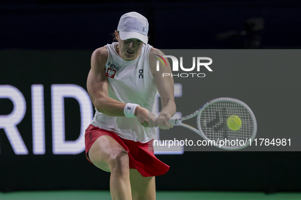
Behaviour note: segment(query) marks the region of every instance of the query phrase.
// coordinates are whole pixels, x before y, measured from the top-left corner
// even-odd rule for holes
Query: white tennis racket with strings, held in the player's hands
[[[238,130],[227,125],[228,117],[236,115],[241,119]],[[197,116],[198,129],[182,123]],[[170,119],[172,125],[180,125],[195,131],[212,146],[227,150],[238,150],[249,146],[256,137],[257,123],[249,106],[235,98],[216,98],[204,104],[196,112],[180,119]],[[234,142],[235,141],[235,142]]]

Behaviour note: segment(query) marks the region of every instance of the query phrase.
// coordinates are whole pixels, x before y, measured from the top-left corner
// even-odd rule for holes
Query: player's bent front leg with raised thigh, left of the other
[[[99,137],[89,150],[89,158],[101,170],[111,172],[112,199],[131,199],[128,154],[116,140]]]

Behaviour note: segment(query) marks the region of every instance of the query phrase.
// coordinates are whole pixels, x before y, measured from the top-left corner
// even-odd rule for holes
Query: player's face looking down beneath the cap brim
[[[143,42],[141,40],[135,38],[121,40],[119,36],[118,43],[118,53],[120,57],[124,60],[136,59],[139,56],[143,45]]]

